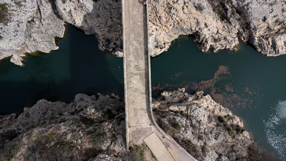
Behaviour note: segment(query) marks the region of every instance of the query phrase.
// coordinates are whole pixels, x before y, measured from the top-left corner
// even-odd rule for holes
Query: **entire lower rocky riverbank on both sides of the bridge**
[[[254,142],[242,121],[209,95],[164,91],[152,107],[158,125],[196,159],[251,157]],[[0,116],[0,158],[155,160],[144,144],[126,152],[124,109],[124,100],[114,94],[78,94],[69,104],[40,100],[19,116]]]

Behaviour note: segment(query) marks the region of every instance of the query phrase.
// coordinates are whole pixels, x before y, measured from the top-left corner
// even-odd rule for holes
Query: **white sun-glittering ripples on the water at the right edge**
[[[286,154],[286,101],[278,101],[276,107],[271,108],[273,114],[263,121],[268,143],[278,152],[282,160]]]

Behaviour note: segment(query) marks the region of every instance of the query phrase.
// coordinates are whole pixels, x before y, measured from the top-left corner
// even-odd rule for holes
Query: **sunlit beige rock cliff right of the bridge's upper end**
[[[152,55],[179,35],[194,34],[202,51],[236,49],[239,39],[267,55],[286,53],[285,2],[251,0],[149,1]]]

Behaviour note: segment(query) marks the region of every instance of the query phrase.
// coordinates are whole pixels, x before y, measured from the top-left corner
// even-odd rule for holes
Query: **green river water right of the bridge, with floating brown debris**
[[[241,43],[237,52],[202,53],[190,36],[151,59],[153,96],[187,87],[204,90],[243,119],[263,147],[286,153],[286,55],[265,57]]]

